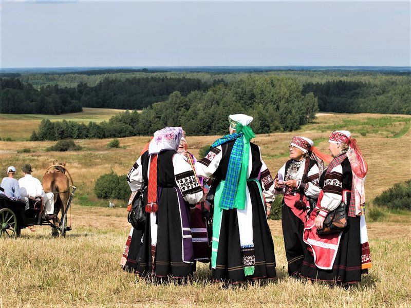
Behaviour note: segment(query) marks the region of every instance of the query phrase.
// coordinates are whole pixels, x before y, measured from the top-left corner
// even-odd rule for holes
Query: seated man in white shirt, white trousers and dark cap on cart
[[[42,183],[31,175],[31,165],[24,165],[22,172],[24,177],[18,180],[22,197],[30,199],[42,197],[45,208],[43,215],[46,219],[54,218],[54,194],[52,192],[44,192]],[[26,204],[28,204],[28,200]]]

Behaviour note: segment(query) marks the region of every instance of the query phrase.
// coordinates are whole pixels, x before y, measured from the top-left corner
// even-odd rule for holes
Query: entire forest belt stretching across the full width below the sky
[[[238,112],[253,115],[257,133],[298,129],[317,111],[411,114],[411,76],[403,73],[97,72],[4,76],[0,113],[142,110],[100,124],[44,121],[32,140],[135,136],[172,125],[190,134],[221,134],[228,114]]]

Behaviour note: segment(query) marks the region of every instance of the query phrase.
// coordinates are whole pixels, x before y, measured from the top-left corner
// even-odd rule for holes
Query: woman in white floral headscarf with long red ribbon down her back
[[[181,127],[156,131],[129,174],[133,190],[148,184],[143,195],[146,223],[136,268],[140,277],[185,279],[193,274],[188,205],[195,206],[203,190],[191,166],[176,152],[181,136]]]

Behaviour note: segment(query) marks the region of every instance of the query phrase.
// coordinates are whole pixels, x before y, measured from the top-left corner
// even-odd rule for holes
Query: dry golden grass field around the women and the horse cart
[[[3,130],[8,126],[3,123],[4,118],[0,119]],[[313,139],[326,152],[329,131],[349,129],[369,165],[369,209],[372,199],[384,189],[411,178],[410,120],[401,115],[319,114],[315,123],[298,132],[258,135],[254,142],[275,173],[287,160],[287,146],[295,134]],[[29,127],[29,122],[25,118],[16,125]],[[24,136],[23,128],[19,129],[19,136]],[[218,137],[187,139],[190,150],[197,155],[201,147]],[[36,232],[22,230],[20,238],[0,239],[0,307],[411,306],[411,215],[406,213],[387,212],[383,222],[368,223],[373,267],[360,285],[348,290],[290,279],[281,222],[273,220],[269,224],[277,259],[276,282],[222,290],[219,284],[208,282],[210,273],[204,264],[197,266],[194,281],[187,285],[153,285],[123,272],[118,262],[129,231],[125,209],[81,206],[79,200],[97,202],[92,190],[96,179],[110,169],[126,174],[148,140],[123,138],[122,148],[118,149],[107,148],[110,140],[79,140],[76,142],[84,149],[77,152],[45,152],[54,142],[0,141],[2,176],[9,165],[20,169],[30,163],[33,176],[42,178],[45,169],[58,159],[67,162],[78,187],[71,213],[73,230],[66,238],[51,238],[48,227],[36,227]],[[31,148],[32,152],[17,153],[23,148]]]

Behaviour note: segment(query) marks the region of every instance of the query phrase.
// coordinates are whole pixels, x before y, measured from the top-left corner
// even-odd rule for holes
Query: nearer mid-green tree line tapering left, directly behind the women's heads
[[[31,140],[146,136],[165,126],[182,126],[192,135],[226,134],[231,113],[252,115],[256,133],[291,131],[314,119],[318,111],[317,99],[312,93],[303,95],[302,89],[294,79],[247,76],[188,95],[175,91],[141,112],[122,112],[99,124],[43,120]]]

